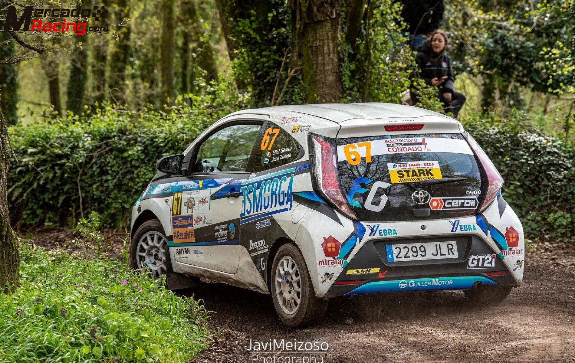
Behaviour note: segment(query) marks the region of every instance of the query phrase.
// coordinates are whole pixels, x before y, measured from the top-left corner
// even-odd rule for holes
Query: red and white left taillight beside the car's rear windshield
[[[335,142],[315,135],[311,135],[310,141],[313,153],[312,176],[317,192],[323,194],[348,217],[357,219],[339,187],[338,153]]]

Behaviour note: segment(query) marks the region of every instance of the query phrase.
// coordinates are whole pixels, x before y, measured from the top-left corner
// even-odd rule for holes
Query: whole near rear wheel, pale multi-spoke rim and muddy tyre
[[[287,326],[309,326],[323,318],[328,302],[316,298],[304,257],[296,245],[289,243],[278,249],[271,280],[275,311]]]

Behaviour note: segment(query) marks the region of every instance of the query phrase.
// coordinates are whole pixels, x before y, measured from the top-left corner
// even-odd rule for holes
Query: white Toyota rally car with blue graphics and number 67
[[[431,111],[243,110],[156,167],[132,211],[132,267],[271,294],[289,326],[317,322],[335,296],[462,289],[487,302],[523,278],[499,172]]]

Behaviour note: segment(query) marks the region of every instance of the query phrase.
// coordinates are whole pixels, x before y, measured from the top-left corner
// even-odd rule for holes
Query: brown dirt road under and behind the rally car
[[[327,342],[306,356],[329,363],[575,362],[575,252],[540,250],[524,268],[523,285],[497,306],[472,306],[461,291],[354,296],[331,300],[319,326],[298,330],[281,323],[270,296],[223,284],[185,294],[204,299],[212,327],[232,330],[198,362],[260,361],[245,350],[250,339]]]

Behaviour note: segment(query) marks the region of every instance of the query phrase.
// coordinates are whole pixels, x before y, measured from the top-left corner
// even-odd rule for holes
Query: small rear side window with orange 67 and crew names
[[[268,122],[262,141],[258,145],[254,172],[280,167],[296,161],[300,155],[300,144],[285,130]]]

